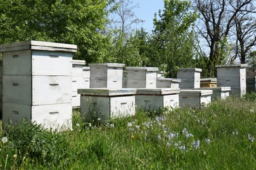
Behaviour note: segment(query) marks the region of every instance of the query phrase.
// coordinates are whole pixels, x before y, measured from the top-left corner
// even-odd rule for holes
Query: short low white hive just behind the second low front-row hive
[[[157,78],[156,88],[179,88],[180,82],[177,78]]]

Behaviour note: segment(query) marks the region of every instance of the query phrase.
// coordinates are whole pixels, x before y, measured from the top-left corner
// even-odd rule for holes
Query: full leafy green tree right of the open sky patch
[[[150,39],[150,66],[159,67],[165,76],[175,78],[179,67],[192,67],[196,35],[193,24],[198,17],[190,11],[191,3],[165,0],[159,20],[155,14]]]

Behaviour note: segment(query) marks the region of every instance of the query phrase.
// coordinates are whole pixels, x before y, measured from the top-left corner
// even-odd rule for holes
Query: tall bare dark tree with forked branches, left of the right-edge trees
[[[223,64],[226,57],[228,33],[234,18],[253,0],[195,0],[195,8],[200,12],[202,26],[198,27],[200,35],[209,47],[207,68],[210,76],[215,76],[215,65]]]

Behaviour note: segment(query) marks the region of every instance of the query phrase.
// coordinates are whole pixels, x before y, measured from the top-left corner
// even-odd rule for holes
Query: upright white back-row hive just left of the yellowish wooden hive
[[[200,88],[200,75],[202,69],[181,68],[177,78],[181,79],[180,88]]]

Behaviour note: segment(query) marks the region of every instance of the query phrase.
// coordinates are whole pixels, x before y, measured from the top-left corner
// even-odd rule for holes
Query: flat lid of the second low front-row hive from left
[[[179,88],[137,88],[137,95],[168,95],[180,93]]]

